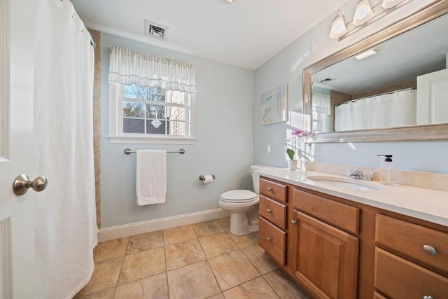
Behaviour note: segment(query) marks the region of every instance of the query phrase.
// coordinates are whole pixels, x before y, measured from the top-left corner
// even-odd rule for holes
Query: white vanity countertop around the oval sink
[[[357,190],[330,186],[308,179],[309,176],[332,176],[346,179],[346,176],[337,174],[281,168],[256,170],[256,172],[270,179],[448,226],[448,191],[407,185],[386,186],[379,181],[366,182],[353,179],[355,182],[365,182],[379,188],[379,190]]]

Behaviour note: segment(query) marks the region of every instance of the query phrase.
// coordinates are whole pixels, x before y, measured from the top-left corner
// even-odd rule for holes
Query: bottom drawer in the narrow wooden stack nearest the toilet
[[[286,232],[260,217],[258,243],[281,265],[285,265]]]

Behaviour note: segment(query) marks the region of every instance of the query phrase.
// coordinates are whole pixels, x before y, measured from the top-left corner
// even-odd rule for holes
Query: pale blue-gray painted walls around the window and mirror
[[[371,0],[372,5],[375,1]],[[281,50],[259,69],[248,71],[164,48],[102,34],[102,136],[101,212],[102,228],[127,223],[207,211],[219,207],[218,198],[226,190],[251,188],[248,167],[255,164],[287,167],[287,130],[301,127],[302,69],[338,50],[356,43],[391,22],[430,3],[411,1],[400,11],[361,29],[341,42],[328,38],[334,14],[316,25],[290,46]],[[356,0],[342,10],[353,15]],[[347,21],[347,20],[346,20]],[[110,144],[108,134],[109,46],[120,46],[183,60],[197,71],[196,136],[194,145]],[[261,95],[288,83],[290,120],[272,125],[260,124]],[[289,137],[289,136],[288,136]],[[135,155],[124,155],[124,148],[186,148],[185,155],[167,156],[167,202],[138,207],[135,195]],[[448,141],[365,142],[316,144],[311,148],[318,162],[378,167],[379,153],[394,155],[398,169],[448,173]],[[216,180],[203,185],[200,174],[216,174]]]

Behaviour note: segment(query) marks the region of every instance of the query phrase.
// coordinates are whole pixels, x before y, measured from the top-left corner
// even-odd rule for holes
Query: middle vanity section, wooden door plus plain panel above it
[[[319,298],[356,298],[359,209],[297,189],[293,199],[295,277]]]

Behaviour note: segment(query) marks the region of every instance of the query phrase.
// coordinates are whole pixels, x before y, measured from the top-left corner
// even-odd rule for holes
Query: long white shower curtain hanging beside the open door
[[[97,244],[94,54],[70,1],[34,5],[35,166],[48,179],[35,202],[36,297],[72,298],[92,275]]]

